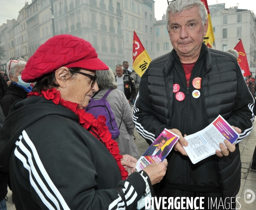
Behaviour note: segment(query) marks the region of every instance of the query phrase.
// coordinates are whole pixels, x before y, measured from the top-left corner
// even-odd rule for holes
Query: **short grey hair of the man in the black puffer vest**
[[[169,3],[167,9],[166,9],[166,20],[167,20],[167,27],[169,28],[169,14],[172,12],[172,14],[183,12],[184,10],[191,9],[194,6],[198,6],[199,8],[199,14],[202,19],[203,26],[205,22],[207,21],[207,9],[204,6],[204,3],[201,2],[201,0],[176,0],[171,3]]]

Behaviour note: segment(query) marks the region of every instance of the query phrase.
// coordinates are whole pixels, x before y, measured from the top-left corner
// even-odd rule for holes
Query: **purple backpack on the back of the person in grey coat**
[[[93,98],[91,98],[90,103],[84,109],[85,109],[85,112],[94,115],[96,119],[99,117],[99,115],[105,116],[107,118],[106,126],[108,127],[108,130],[112,135],[112,139],[115,140],[120,135],[120,132],[119,132],[120,126],[117,127],[114,113],[111,110],[110,104],[106,100],[108,94],[112,90],[113,89],[108,90],[108,92],[106,92],[106,94],[99,100],[94,100]],[[121,120],[121,123],[122,123],[122,120]]]

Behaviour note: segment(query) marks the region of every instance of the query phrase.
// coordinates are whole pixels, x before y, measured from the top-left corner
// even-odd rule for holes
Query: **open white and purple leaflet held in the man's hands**
[[[204,158],[214,155],[216,150],[221,151],[219,144],[221,142],[224,144],[225,139],[234,144],[238,137],[239,134],[235,129],[221,115],[218,115],[205,129],[184,137],[189,144],[183,148],[192,163],[196,164]]]

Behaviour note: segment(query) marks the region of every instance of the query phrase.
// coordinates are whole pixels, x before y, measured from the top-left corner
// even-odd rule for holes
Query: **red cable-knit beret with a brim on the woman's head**
[[[29,58],[21,78],[25,82],[35,82],[61,66],[108,70],[108,66],[97,57],[95,49],[84,39],[72,35],[54,36]]]

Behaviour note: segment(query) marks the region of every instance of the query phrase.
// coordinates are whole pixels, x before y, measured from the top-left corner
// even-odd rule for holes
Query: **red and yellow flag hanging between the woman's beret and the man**
[[[151,62],[147,51],[140,42],[139,37],[134,31],[134,41],[133,41],[133,69],[134,71],[142,77],[145,70],[148,69],[148,65]]]

